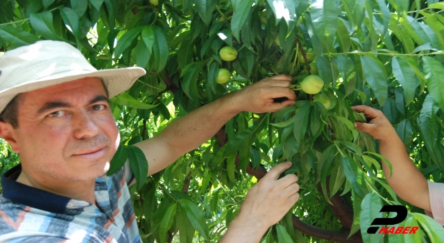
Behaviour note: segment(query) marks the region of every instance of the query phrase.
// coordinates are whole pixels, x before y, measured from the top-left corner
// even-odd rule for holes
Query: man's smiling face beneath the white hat
[[[31,177],[84,181],[108,171],[119,131],[99,78],[26,92],[13,132],[22,167]]]

